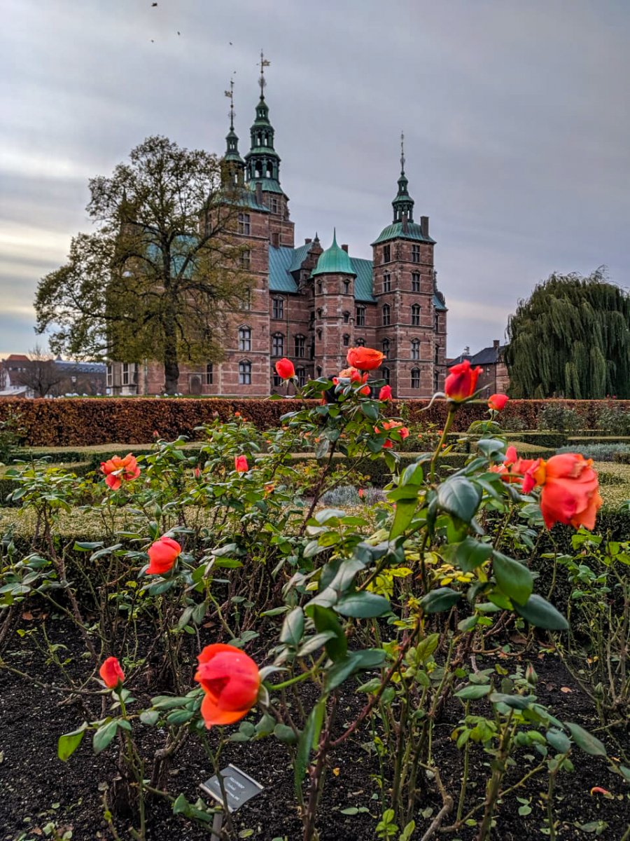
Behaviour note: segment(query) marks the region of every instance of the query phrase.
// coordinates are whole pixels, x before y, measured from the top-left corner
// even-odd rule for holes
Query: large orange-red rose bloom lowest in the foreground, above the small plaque
[[[202,685],[202,718],[206,727],[234,724],[255,705],[260,687],[258,666],[233,645],[207,645],[197,657],[195,680]]]

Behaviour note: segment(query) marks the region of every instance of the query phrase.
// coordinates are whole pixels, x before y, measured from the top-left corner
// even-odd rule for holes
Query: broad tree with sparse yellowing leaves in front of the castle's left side
[[[248,298],[249,246],[234,236],[244,188],[216,156],[165,137],[129,157],[90,181],[98,230],[73,237],[66,265],[39,282],[36,330],[71,357],[158,360],[172,394],[180,362],[222,358]]]

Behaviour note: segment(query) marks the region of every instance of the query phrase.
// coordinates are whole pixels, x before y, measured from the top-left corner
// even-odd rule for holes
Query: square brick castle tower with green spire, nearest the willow
[[[375,346],[386,354],[381,376],[396,397],[420,398],[444,382],[446,306],[435,285],[428,216],[413,220],[403,140],[393,220],[372,243]]]

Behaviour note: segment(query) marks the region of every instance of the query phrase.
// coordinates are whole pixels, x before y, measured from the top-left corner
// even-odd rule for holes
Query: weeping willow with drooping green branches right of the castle
[[[512,397],[630,397],[630,296],[602,268],[538,283],[510,316],[507,338]]]

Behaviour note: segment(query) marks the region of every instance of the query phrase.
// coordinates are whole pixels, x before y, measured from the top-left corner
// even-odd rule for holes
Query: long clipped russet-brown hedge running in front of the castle
[[[595,429],[598,410],[613,405],[630,411],[630,400],[510,400],[502,415],[519,417],[527,429],[536,429],[538,414],[549,403],[575,410],[583,429]],[[0,421],[16,417],[24,431],[22,443],[29,447],[71,447],[86,444],[142,444],[155,436],[174,439],[186,435],[202,437],[196,426],[214,418],[228,421],[239,412],[260,429],[277,426],[281,415],[302,406],[294,399],[188,399],[188,398],[102,398],[102,399],[0,399]],[[402,414],[407,423],[441,428],[446,403],[436,400],[395,401],[392,414]],[[486,418],[486,401],[460,407],[454,431],[465,431],[472,421]]]

